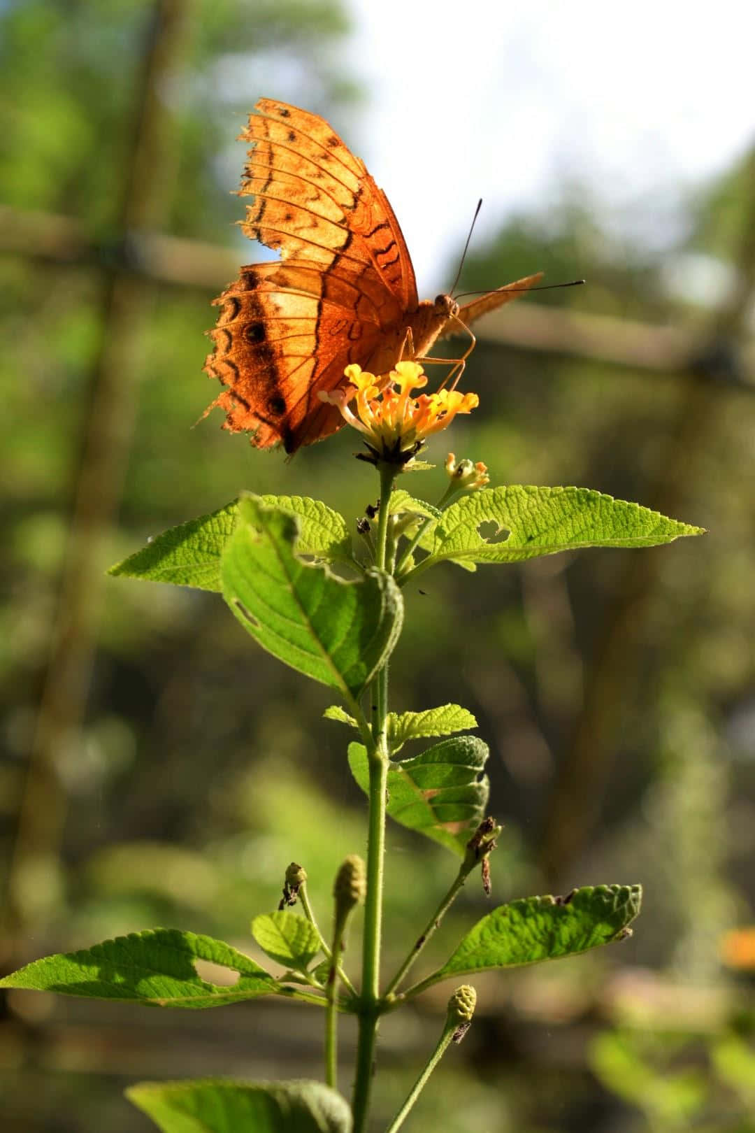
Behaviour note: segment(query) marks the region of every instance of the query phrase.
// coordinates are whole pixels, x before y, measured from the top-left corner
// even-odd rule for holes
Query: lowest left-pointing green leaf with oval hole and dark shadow
[[[203,979],[195,961],[209,961],[225,969],[229,983]],[[259,964],[222,940],[171,928],[131,932],[81,952],[35,960],[6,976],[0,987],[160,1007],[220,1007],[281,989]]]

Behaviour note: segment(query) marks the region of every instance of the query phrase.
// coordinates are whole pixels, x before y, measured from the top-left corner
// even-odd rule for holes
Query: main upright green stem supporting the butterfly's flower
[[[378,513],[376,565],[386,569],[388,510],[395,469],[380,465],[380,511]],[[359,1004],[357,1073],[352,1098],[353,1133],[363,1133],[372,1084],[372,1063],[380,1016],[380,940],[383,921],[383,864],[385,857],[385,815],[388,781],[386,717],[388,712],[388,667],[384,665],[372,683],[372,744],[368,747],[369,826],[367,838],[367,900],[362,940],[362,990]]]

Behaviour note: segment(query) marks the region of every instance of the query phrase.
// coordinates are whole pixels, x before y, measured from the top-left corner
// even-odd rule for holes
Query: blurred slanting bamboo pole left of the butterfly
[[[117,236],[157,228],[174,191],[178,147],[162,92],[185,53],[187,0],[155,0],[148,11],[144,65],[136,87],[129,152],[123,165]],[[70,222],[40,231],[68,255],[76,246]],[[61,258],[65,258],[61,256]],[[102,269],[101,342],[93,361],[86,419],[74,474],[72,516],[60,581],[57,621],[8,875],[5,947],[14,961],[15,938],[54,906],[60,888],[60,846],[67,799],[60,757],[80,742],[100,615],[106,537],[117,512],[130,446],[143,326],[152,304],[144,278],[117,264]]]

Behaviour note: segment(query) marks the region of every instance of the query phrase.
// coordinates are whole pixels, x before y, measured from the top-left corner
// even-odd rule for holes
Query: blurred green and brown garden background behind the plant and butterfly
[[[191,428],[215,395],[200,373],[209,300],[267,255],[231,227],[231,138],[267,94],[324,113],[367,156],[360,11],[0,3],[3,971],[157,923],[251,951],[249,918],[275,906],[289,861],[326,918],[335,869],[362,847],[327,693],[250,649],[215,597],[103,577],[242,487],[354,517],[369,502],[343,434],[285,463],[215,415]],[[385,67],[400,83],[411,44],[396,35]],[[451,142],[431,162],[421,144],[439,94],[412,112],[417,169],[394,170],[420,199],[455,176]],[[467,121],[466,143],[484,145]],[[755,1130],[755,152],[679,194],[661,247],[616,225],[599,185],[573,181],[558,206],[478,238],[465,266],[462,290],[538,269],[590,286],[489,321],[467,370],[482,409],[454,426],[457,455],[494,483],[582,484],[711,534],[535,561],[503,585],[448,568],[412,596],[395,707],[457,700],[478,716],[505,824],[496,900],[645,886],[620,948],[479,981],[474,1028],[418,1130]],[[460,249],[443,250],[447,283]],[[430,457],[443,463],[443,442]],[[439,496],[443,469],[430,475]],[[454,867],[403,829],[389,845],[388,923],[404,939]],[[457,923],[486,908],[466,892]],[[434,942],[438,959],[453,939]],[[386,1020],[386,1118],[441,1000],[428,994],[413,1024]],[[120,1093],[140,1076],[319,1075],[307,1013],[249,1004],[233,1020],[228,1032],[224,1008],[145,1017],[15,993],[3,1128],[146,1130]]]

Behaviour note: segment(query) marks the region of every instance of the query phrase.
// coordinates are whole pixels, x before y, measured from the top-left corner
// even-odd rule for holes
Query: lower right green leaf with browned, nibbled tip
[[[564,898],[524,897],[500,905],[478,921],[435,974],[446,979],[535,964],[621,939],[640,912],[641,898],[638,885],[587,885]]]

